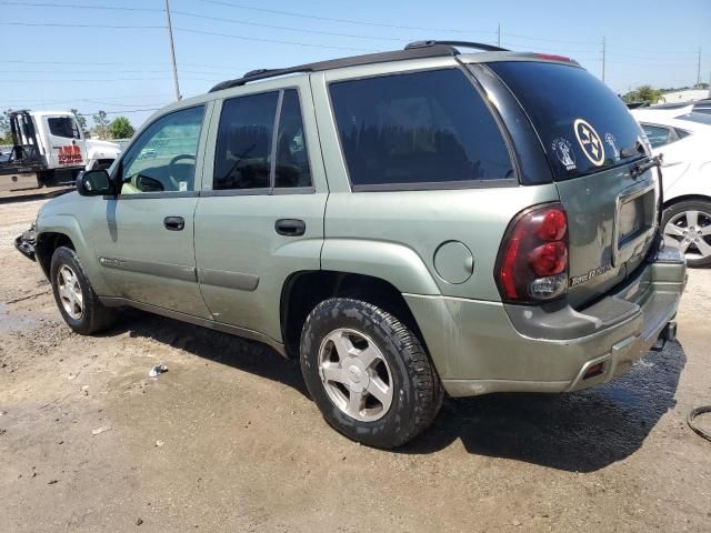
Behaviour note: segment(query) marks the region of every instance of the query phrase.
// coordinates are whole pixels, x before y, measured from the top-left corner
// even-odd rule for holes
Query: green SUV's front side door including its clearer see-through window
[[[93,228],[114,295],[202,318],[193,215],[208,105],[164,114],[142,131],[113,171],[120,194],[97,203]]]

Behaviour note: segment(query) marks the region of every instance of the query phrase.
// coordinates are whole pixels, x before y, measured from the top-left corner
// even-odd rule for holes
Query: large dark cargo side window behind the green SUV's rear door
[[[354,185],[512,178],[499,127],[457,69],[332,83]]]

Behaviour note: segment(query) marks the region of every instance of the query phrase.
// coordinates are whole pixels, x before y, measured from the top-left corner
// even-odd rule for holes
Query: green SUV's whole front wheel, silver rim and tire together
[[[50,280],[59,312],[77,333],[90,335],[113,323],[114,311],[99,301],[71,248],[54,250]]]

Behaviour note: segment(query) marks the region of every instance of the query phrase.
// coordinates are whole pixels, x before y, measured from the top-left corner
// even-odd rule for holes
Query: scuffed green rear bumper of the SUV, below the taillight
[[[683,257],[665,250],[583,312],[565,305],[541,318],[528,308],[519,320],[500,302],[412,294],[405,300],[450,395],[565,392],[627,372],[677,314],[685,280]],[[599,363],[594,375],[585,375]]]

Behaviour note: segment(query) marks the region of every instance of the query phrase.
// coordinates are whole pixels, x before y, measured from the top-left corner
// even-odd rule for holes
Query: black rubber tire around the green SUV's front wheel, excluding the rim
[[[58,282],[58,272],[62,266],[68,266],[73,274],[76,274],[79,288],[82,296],[82,310],[81,315],[78,318],[71,316],[64,309],[62,299],[60,296],[60,289]],[[97,293],[91,288],[91,283],[87,279],[77,252],[71,248],[59,247],[52,254],[52,263],[50,265],[50,282],[52,283],[52,293],[54,294],[54,301],[59,308],[64,322],[82,335],[91,335],[109,328],[116,320],[116,312],[112,309],[104,306],[97,296]]]

